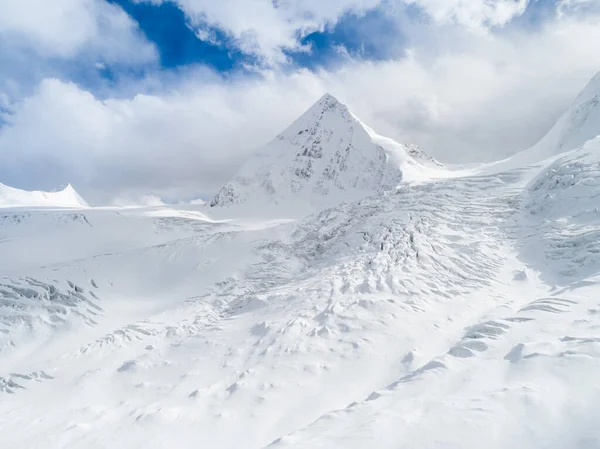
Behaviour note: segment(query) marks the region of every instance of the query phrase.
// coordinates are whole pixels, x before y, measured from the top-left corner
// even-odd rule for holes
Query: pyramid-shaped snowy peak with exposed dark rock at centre
[[[417,147],[378,136],[326,94],[251,157],[211,206],[335,204],[393,190],[430,164]]]

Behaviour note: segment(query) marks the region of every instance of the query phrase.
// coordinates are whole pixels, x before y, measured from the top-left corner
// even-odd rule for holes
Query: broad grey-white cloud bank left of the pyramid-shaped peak
[[[298,109],[290,104],[312,98],[285,84],[191,83],[162,96],[101,101],[48,79],[0,130],[0,178],[39,188],[68,179],[96,202],[121,193],[206,195],[292,119]]]

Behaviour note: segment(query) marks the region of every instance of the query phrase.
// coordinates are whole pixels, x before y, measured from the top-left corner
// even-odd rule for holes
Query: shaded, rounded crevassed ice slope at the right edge
[[[524,253],[552,282],[583,279],[600,264],[600,138],[569,152],[528,186],[536,229]]]

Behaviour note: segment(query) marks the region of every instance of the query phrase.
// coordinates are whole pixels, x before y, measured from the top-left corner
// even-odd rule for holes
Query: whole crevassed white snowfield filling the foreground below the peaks
[[[551,156],[294,218],[0,211],[0,447],[600,447],[600,139]]]

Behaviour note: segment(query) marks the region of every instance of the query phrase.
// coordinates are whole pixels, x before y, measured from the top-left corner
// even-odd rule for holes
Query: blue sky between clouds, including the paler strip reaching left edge
[[[104,0],[102,0],[104,1]],[[131,88],[135,80],[172,80],[173,73],[185,72],[194,67],[208,67],[228,76],[242,74],[256,76],[265,66],[260,55],[248,54],[237,46],[236,39],[217,26],[192,23],[184,10],[175,2],[159,4],[132,0],[107,0],[121,8],[139,27],[136,33],[154,46],[156,58],[128,60],[105,58],[102,54],[95,60],[85,55],[75,58],[40,57],[23,46],[18,51],[9,49],[12,42],[3,45],[0,34],[0,81],[2,78],[14,83],[19,80],[18,95],[31,92],[45,77],[58,77],[72,81],[100,97],[133,94],[136,89],[152,92],[153,83],[140,83]],[[198,38],[196,31],[202,28],[211,34],[211,41]],[[335,23],[324,23],[322,30],[306,33],[298,43],[305,48],[285,48],[284,63],[279,70],[298,68],[318,70],[336,67],[348,58],[360,60],[385,60],[402,57],[405,38],[395,18],[382,7],[360,12],[345,12]],[[33,70],[32,70],[33,68]],[[1,85],[1,84],[0,84]],[[12,96],[12,95],[11,95]],[[1,107],[1,103],[0,103]],[[1,119],[0,119],[1,123]]]

